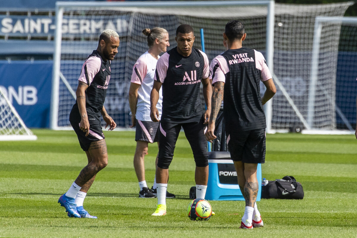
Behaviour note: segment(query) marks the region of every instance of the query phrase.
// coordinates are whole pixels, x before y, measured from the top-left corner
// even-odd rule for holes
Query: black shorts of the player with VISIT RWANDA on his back
[[[251,131],[227,132],[228,150],[233,161],[265,163],[265,128]]]

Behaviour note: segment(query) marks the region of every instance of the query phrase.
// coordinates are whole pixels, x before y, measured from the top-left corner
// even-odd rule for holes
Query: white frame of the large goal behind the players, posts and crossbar
[[[64,9],[76,9],[77,7],[96,7],[97,9],[110,9],[115,7],[119,10],[128,8],[143,9],[146,7],[212,7],[212,6],[267,6],[267,26],[266,26],[266,62],[271,72],[273,72],[273,54],[274,54],[274,0],[242,0],[242,1],[145,1],[145,2],[56,2],[56,31],[55,31],[55,51],[53,56],[53,71],[52,71],[52,92],[51,92],[51,107],[50,107],[50,128],[52,130],[64,130],[65,128],[58,126],[58,108],[59,108],[59,86],[60,80],[66,80],[61,76],[60,60],[61,60],[61,40],[62,40],[62,18]],[[67,84],[66,84],[67,85]],[[68,87],[68,86],[67,86]],[[70,89],[69,89],[70,90]],[[73,92],[71,92],[73,95]],[[265,113],[267,118],[268,133],[271,131],[272,118],[272,100],[265,105]]]

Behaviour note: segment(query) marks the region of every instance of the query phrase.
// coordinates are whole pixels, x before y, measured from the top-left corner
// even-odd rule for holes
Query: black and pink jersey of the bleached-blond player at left
[[[88,116],[100,117],[107,88],[110,81],[110,60],[103,60],[99,52],[94,50],[84,62],[78,81],[88,85],[85,91],[86,110]],[[77,100],[70,113],[70,121],[80,121]]]

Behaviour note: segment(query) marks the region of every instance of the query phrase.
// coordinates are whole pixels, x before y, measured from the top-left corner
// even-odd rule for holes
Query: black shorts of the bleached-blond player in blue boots
[[[79,145],[81,146],[83,151],[88,151],[90,147],[90,143],[93,141],[100,141],[105,138],[103,131],[102,131],[102,126],[100,125],[100,120],[89,120],[89,134],[86,136],[86,132],[82,131],[79,128],[80,123],[79,122],[72,122],[70,121],[71,126],[74,129],[74,132],[76,132]]]

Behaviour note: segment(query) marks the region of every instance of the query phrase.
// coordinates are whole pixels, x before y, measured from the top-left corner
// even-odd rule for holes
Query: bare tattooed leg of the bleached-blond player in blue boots
[[[89,147],[89,154],[92,158],[91,162],[82,169],[75,183],[85,189],[89,189],[94,181],[95,175],[108,164],[108,153],[105,140],[92,142]],[[88,182],[87,186],[86,183]]]

